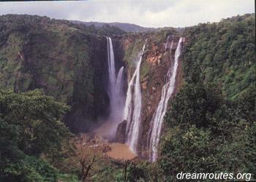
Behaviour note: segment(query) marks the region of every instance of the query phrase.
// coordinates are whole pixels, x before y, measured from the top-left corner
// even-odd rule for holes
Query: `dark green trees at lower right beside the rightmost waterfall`
[[[172,100],[159,166],[165,180],[189,173],[255,171],[255,94],[225,100],[216,85],[190,82]],[[245,106],[247,105],[247,106]]]

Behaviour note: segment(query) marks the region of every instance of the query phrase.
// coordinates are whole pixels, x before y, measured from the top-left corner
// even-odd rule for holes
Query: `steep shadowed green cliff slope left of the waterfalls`
[[[0,22],[1,88],[42,88],[69,104],[65,121],[73,132],[89,130],[97,116],[108,115],[105,36],[48,17],[6,15]]]

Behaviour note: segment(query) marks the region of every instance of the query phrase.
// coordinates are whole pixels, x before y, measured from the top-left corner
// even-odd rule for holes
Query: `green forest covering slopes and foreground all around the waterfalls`
[[[72,114],[88,113],[88,127],[105,112],[105,36],[129,33],[0,16],[0,181],[176,181],[181,171],[252,173],[255,179],[255,14],[176,33],[186,38],[183,84],[165,114],[159,158],[125,161],[107,157],[104,144],[92,149],[101,141],[84,136]]]

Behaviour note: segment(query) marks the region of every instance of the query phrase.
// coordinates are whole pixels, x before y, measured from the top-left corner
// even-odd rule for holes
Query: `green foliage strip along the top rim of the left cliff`
[[[83,23],[72,23],[68,20],[50,19],[50,17],[40,17],[37,15],[2,15],[0,17],[0,31],[8,30],[1,34],[1,38],[6,39],[7,33],[12,31],[22,31],[25,33],[30,28],[39,30],[45,28],[50,31],[64,31],[68,29],[69,32],[80,31],[83,33],[91,33],[97,35],[111,36],[121,35],[126,33],[116,26],[104,25],[101,28],[96,28],[94,25],[86,26]],[[4,39],[1,39],[4,41]],[[0,41],[1,45],[1,41]]]

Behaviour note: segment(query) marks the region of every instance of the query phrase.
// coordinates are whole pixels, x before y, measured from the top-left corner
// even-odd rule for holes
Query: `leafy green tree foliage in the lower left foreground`
[[[69,141],[71,134],[60,122],[68,109],[42,90],[0,90],[1,180],[57,181],[59,170],[40,156],[58,156]]]

